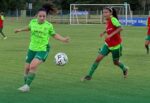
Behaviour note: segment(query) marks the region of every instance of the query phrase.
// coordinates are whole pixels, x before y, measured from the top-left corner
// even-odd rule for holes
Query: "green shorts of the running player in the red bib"
[[[107,56],[109,53],[112,53],[113,60],[118,60],[122,56],[122,45],[119,48],[110,50],[109,47],[104,44],[103,47],[99,50],[99,53]]]

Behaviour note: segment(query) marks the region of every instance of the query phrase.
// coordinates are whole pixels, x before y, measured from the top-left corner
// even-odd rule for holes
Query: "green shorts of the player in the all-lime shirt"
[[[29,49],[26,56],[26,63],[30,64],[34,58],[45,62],[48,57],[49,51],[50,48],[47,48],[47,51],[32,51]]]

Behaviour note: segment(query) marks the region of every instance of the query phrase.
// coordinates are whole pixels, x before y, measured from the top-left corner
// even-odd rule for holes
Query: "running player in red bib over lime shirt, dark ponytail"
[[[92,67],[90,68],[87,76],[81,79],[82,81],[92,79],[92,75],[98,67],[99,63],[109,53],[112,54],[114,65],[122,69],[124,78],[126,78],[128,74],[128,68],[119,61],[122,53],[122,39],[120,35],[122,28],[120,22],[118,21],[117,12],[114,8],[106,7],[103,9],[103,16],[106,18],[106,31],[100,34],[100,36],[102,37],[105,33],[107,33],[105,44],[100,49],[99,55],[93,63]]]

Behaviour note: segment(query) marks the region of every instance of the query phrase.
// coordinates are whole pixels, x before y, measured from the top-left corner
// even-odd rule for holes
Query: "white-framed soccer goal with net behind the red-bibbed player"
[[[117,10],[119,19],[124,25],[132,23],[130,4],[70,4],[70,24],[102,24],[104,7],[113,7]]]

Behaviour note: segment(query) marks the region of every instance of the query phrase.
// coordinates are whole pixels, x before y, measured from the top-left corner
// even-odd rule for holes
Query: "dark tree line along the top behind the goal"
[[[144,1],[144,2],[143,2]],[[148,10],[150,9],[148,4],[149,0],[1,0],[0,10],[16,10],[27,9],[28,3],[33,3],[33,8],[40,8],[43,3],[52,2],[59,9],[69,10],[71,3],[84,3],[84,4],[109,4],[109,3],[124,3],[128,2],[131,5],[132,10]]]

